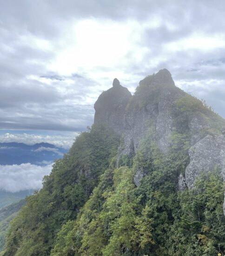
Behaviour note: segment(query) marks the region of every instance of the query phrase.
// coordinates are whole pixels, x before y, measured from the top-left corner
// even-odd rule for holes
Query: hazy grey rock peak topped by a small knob
[[[131,98],[129,90],[114,79],[113,87],[103,92],[94,104],[94,123],[104,123],[115,132],[122,134],[124,131],[124,114],[126,105]]]

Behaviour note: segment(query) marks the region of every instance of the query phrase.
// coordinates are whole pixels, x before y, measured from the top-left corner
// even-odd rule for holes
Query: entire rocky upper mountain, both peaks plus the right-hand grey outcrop
[[[192,188],[201,171],[216,166],[225,177],[225,120],[203,102],[177,88],[166,69],[139,82],[134,95],[113,81],[113,88],[99,96],[94,108],[95,122],[102,122],[121,135],[117,165],[124,155],[135,155],[153,123],[158,146],[166,155],[173,133],[185,134],[190,162],[180,174],[179,189]],[[182,141],[180,141],[182,143]],[[145,174],[137,170],[136,185]]]

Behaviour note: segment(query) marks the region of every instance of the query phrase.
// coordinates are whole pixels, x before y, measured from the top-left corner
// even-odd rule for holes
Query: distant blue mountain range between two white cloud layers
[[[31,163],[46,165],[53,160],[62,157],[67,152],[64,148],[58,148],[49,143],[36,143],[26,145],[17,142],[0,143],[0,165],[12,165]]]

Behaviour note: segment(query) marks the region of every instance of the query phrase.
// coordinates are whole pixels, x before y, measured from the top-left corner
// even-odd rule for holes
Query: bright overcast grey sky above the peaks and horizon
[[[1,134],[85,130],[113,78],[133,93],[161,68],[225,117],[224,17],[224,0],[2,1]]]

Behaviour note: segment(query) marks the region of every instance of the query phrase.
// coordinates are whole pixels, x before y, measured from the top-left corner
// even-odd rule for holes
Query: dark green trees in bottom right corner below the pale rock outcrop
[[[169,232],[169,255],[217,255],[225,250],[224,184],[215,169],[203,173],[195,188],[178,195],[179,212]],[[171,246],[172,245],[172,246]]]

